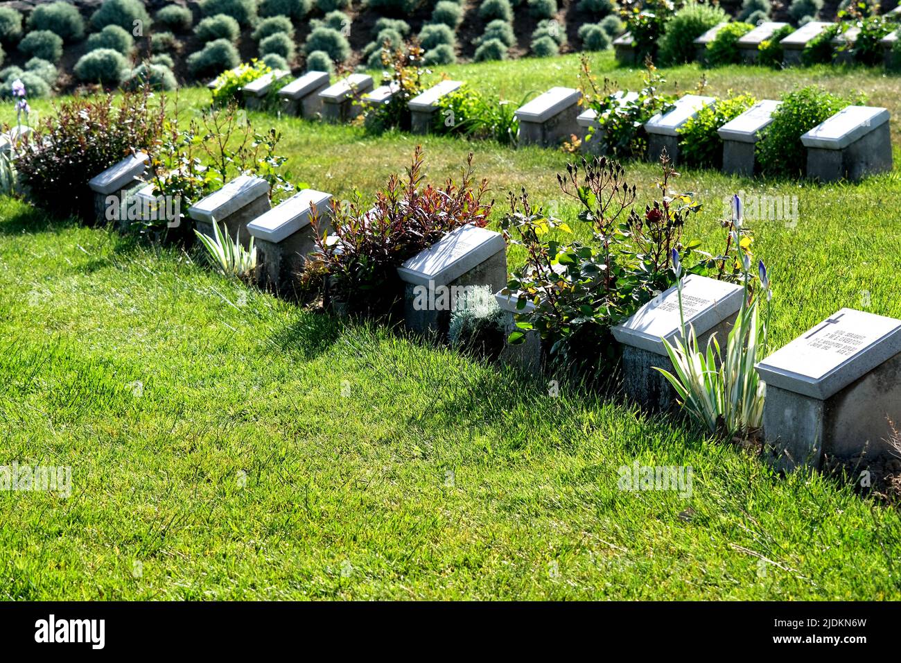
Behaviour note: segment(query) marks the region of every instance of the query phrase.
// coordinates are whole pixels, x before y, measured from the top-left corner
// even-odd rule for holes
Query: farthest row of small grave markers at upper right
[[[901,18],[901,5],[887,15]],[[705,61],[707,44],[714,41],[716,35],[728,24],[729,23],[724,22],[714,25],[710,30],[696,38],[694,42],[696,48],[695,60],[698,62]],[[746,64],[753,64],[756,62],[758,55],[760,55],[760,44],[763,41],[769,40],[777,30],[786,27],[788,24],[789,23],[780,23],[778,21],[766,21],[757,25],[751,32],[742,35],[742,37],[735,42],[735,47],[739,51],[742,62]],[[805,50],[807,45],[826,28],[834,24],[835,23],[824,23],[823,21],[811,21],[802,25],[795,32],[791,32],[783,37],[778,42],[782,47],[782,63],[787,67],[800,64],[801,53]],[[854,42],[857,41],[859,34],[860,28],[852,26],[845,32],[833,37],[832,45],[836,50],[836,62],[843,63],[851,60],[853,57],[851,54],[851,47],[854,45]],[[883,58],[887,67],[891,64],[892,47],[895,45],[897,38],[896,32],[893,31],[879,40],[879,43],[883,48]],[[633,41],[631,32],[625,32],[614,40],[614,51],[616,53],[616,60],[623,64],[632,64],[635,62],[635,42]]]

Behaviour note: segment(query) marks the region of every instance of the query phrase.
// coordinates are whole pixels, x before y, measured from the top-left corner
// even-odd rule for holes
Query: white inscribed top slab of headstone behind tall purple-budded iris
[[[682,285],[682,309],[686,328],[690,325],[696,336],[703,336],[742,308],[743,296],[744,289],[740,285],[689,274]],[[676,286],[651,299],[632,318],[616,325],[612,331],[614,338],[623,345],[632,345],[655,355],[666,356],[662,339],[673,343],[682,336]],[[720,345],[724,345],[724,338],[717,340]]]

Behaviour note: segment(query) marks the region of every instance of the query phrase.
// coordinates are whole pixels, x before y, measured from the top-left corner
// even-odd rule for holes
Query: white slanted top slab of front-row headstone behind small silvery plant
[[[429,248],[416,253],[397,268],[401,281],[413,285],[447,285],[505,250],[500,233],[478,226],[462,226],[444,235]]]

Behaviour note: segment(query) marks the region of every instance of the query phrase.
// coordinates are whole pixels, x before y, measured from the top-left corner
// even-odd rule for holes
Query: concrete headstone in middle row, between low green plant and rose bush
[[[573,87],[551,87],[516,109],[519,143],[551,147],[578,134],[578,101],[582,93]]]

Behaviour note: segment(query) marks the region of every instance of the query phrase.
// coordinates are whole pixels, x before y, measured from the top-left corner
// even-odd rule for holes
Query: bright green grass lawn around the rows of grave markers
[[[574,84],[577,64],[448,70],[518,100]],[[640,77],[608,56],[599,68],[623,85]],[[687,90],[703,73],[714,93],[856,87],[901,116],[897,79],[866,69],[668,77]],[[207,95],[182,97],[196,108]],[[423,143],[434,179],[474,150],[499,201],[524,185],[575,216],[556,188],[562,152],[251,117],[283,132],[292,180],[339,197],[371,193]],[[628,171],[651,200],[655,167]],[[686,171],[677,186],[705,202],[687,235],[712,250],[722,198],[798,198],[796,225],[754,225],[775,345],[842,306],[901,317],[897,170],[853,186]],[[0,492],[7,599],[901,598],[898,512],[850,481],[778,477],[615,395],[563,384],[552,397],[503,367],[9,198],[0,343],[0,465],[72,468],[68,499]],[[619,490],[618,468],[635,462],[690,465],[691,496]]]

